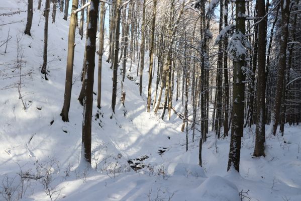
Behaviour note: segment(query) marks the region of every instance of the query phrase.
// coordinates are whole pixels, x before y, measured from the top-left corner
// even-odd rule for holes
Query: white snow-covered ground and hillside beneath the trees
[[[0,13],[26,9],[25,0],[3,1]],[[180,131],[182,120],[172,114],[170,120],[163,121],[153,112],[146,112],[148,56],[142,96],[139,85],[126,78],[125,107],[118,101],[115,115],[111,110],[113,72],[104,56],[101,110],[96,108],[94,95],[92,169],[78,170],[83,109],[77,96],[84,40],[76,34],[70,122],[64,123],[59,114],[69,22],[62,20],[58,12],[56,23],[49,23],[46,81],[40,73],[44,17],[37,10],[37,1],[32,37],[23,35],[26,16],[26,12],[0,16],[0,44],[7,40],[8,32],[12,37],[6,53],[6,44],[0,47],[0,200],[9,200],[9,196],[11,200],[50,200],[49,195],[53,200],[57,197],[70,201],[301,200],[300,126],[286,126],[284,137],[267,136],[267,157],[259,159],[251,157],[255,127],[245,129],[240,174],[226,171],[230,137],[216,141],[215,135],[210,134],[203,146],[201,168],[197,165],[199,133],[192,142],[189,131],[186,152],[185,133]],[[132,72],[127,74],[136,79],[136,70],[134,63]],[[95,82],[96,75],[97,66]],[[118,100],[120,97],[121,81]],[[180,103],[174,104],[178,109]],[[134,171],[132,163],[144,168]]]

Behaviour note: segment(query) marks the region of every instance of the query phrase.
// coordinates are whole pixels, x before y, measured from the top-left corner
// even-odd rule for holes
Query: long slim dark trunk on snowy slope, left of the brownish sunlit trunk
[[[50,10],[50,0],[45,0],[45,26],[44,26],[44,53],[43,53],[43,66],[41,69],[41,73],[46,76],[46,67],[47,67],[47,46],[48,46],[48,18],[49,18],[49,10]]]

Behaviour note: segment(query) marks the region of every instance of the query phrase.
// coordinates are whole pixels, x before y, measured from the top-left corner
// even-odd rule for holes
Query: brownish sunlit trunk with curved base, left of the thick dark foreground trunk
[[[73,60],[74,60],[74,40],[75,40],[75,10],[78,7],[78,0],[72,1],[72,10],[69,25],[68,34],[68,54],[67,54],[67,67],[66,67],[66,82],[65,82],[65,93],[64,93],[64,105],[61,112],[61,117],[64,122],[69,122],[69,108],[72,91],[72,77],[73,77]]]

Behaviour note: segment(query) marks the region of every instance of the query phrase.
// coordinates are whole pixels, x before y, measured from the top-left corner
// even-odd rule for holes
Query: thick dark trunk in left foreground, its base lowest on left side
[[[84,98],[83,98],[83,120],[82,120],[82,143],[81,155],[84,161],[91,165],[91,123],[92,123],[92,106],[93,106],[93,83],[94,83],[94,67],[95,67],[95,50],[96,50],[96,32],[98,17],[98,0],[91,0],[89,8],[89,23],[87,29],[86,44],[86,75],[84,79]],[[83,161],[83,159],[81,159]]]

